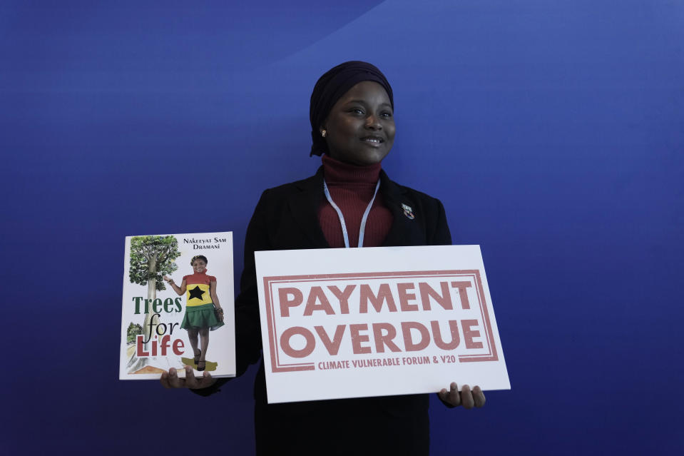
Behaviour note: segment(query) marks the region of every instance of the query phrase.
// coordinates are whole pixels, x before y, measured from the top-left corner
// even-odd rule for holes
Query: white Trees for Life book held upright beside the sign
[[[235,377],[233,233],[127,236],[120,380]]]

